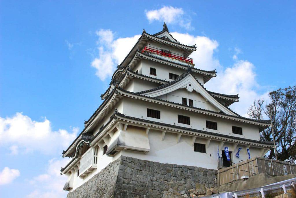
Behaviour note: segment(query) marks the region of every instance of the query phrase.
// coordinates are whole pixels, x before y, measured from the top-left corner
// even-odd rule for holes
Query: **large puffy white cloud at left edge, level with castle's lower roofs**
[[[43,154],[60,153],[75,139],[78,128],[72,128],[72,132],[64,129],[53,131],[50,121],[32,121],[30,117],[22,113],[16,113],[12,117],[0,117],[0,146],[10,147],[12,154],[18,150],[24,152],[39,151]],[[49,149],[50,148],[50,149]]]

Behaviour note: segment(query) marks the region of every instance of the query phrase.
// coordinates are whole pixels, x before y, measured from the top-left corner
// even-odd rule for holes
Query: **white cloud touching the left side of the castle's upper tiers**
[[[123,61],[140,35],[114,39],[114,33],[111,30],[103,29],[96,31],[96,35],[99,37],[98,56],[91,62],[91,66],[96,68],[96,75],[104,81],[113,74],[117,64]]]

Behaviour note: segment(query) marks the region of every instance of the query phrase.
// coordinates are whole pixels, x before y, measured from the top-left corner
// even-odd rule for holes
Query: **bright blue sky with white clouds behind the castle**
[[[179,2],[0,1],[1,196],[66,196],[62,150],[136,35],[164,20],[180,42],[197,44],[196,67],[217,69],[206,88],[239,93],[231,108],[241,115],[296,84],[295,1]]]

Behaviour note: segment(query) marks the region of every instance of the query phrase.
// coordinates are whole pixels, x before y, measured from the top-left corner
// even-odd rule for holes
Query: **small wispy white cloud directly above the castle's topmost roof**
[[[160,9],[145,10],[145,14],[149,23],[153,21],[165,21],[168,24],[178,24],[186,29],[193,29],[191,27],[191,20],[188,17],[184,17],[184,10],[182,8],[163,6]]]

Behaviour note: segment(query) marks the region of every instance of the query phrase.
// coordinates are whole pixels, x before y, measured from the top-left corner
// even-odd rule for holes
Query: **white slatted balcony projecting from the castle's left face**
[[[79,178],[84,178],[94,169],[96,169],[96,164],[98,161],[98,148],[90,148],[86,151],[80,160],[79,165]]]

